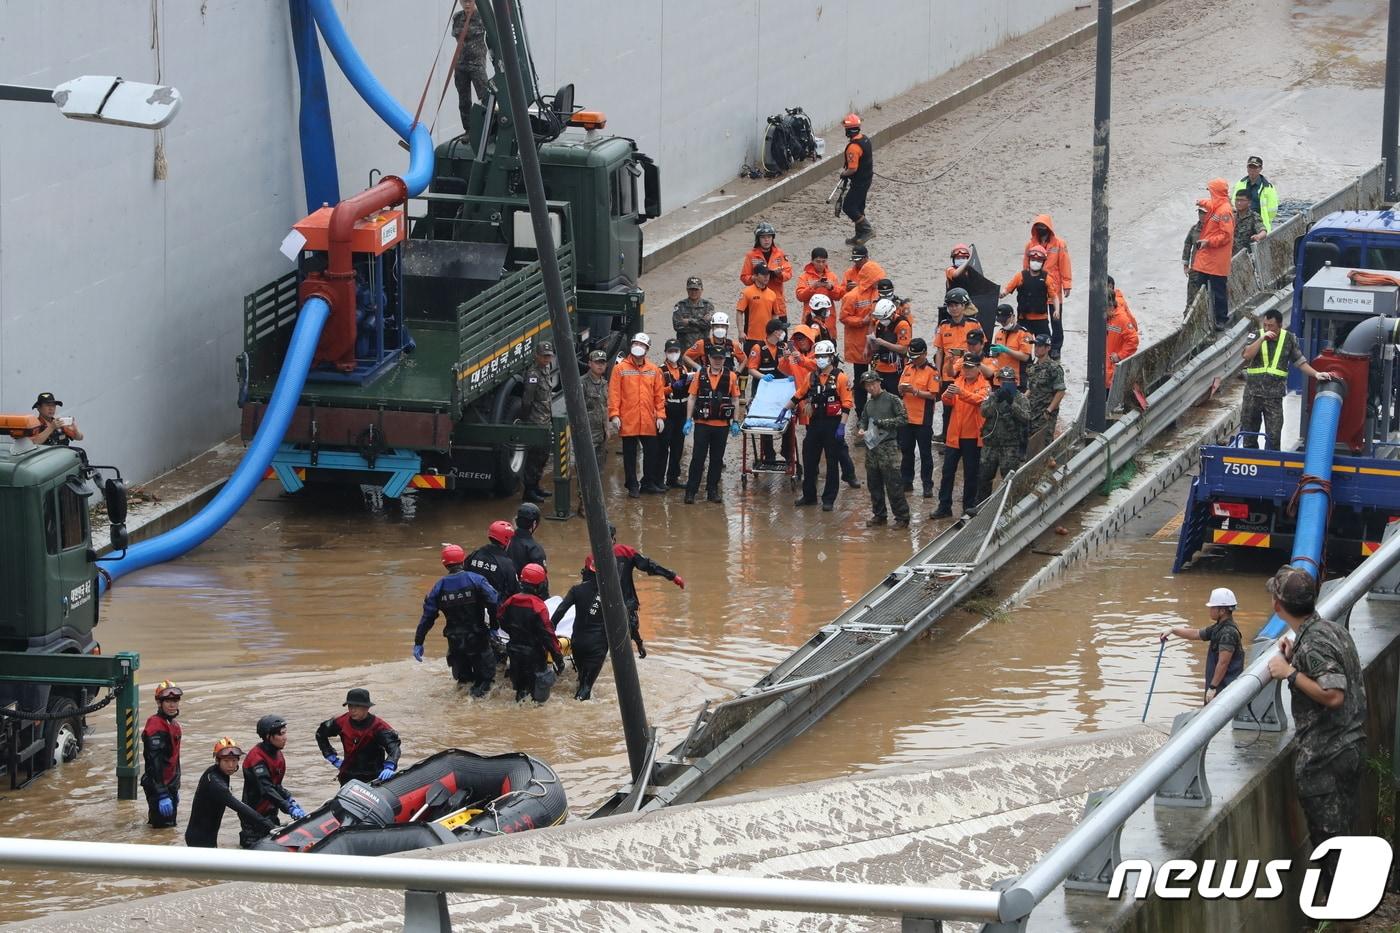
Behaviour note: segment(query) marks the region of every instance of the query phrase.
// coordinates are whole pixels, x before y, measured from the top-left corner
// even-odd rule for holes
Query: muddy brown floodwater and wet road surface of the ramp
[[[1110,256],[1148,340],[1177,319],[1180,238],[1205,179],[1238,177],[1245,156],[1259,151],[1282,196],[1317,196],[1368,165],[1379,137],[1371,116],[1379,112],[1383,31],[1369,27],[1380,21],[1382,4],[1205,0],[1191,4],[1183,22],[1186,8],[1165,3],[1117,35]],[[1228,29],[1243,15],[1252,35],[1231,43]],[[1091,64],[1092,50],[1071,52],[876,154],[878,170],[892,178],[949,170],[925,185],[876,181],[871,199],[879,228],[872,254],[897,290],[914,297],[917,333],[931,331],[949,244],[977,242],[988,273],[1004,279],[1030,216],[1049,209],[1077,262],[1065,359],[1071,371],[1082,367],[1077,332],[1088,290]],[[848,228],[832,220],[823,196],[812,188],[766,214],[798,261],[812,245],[844,255]],[[662,332],[692,272],[727,308],[748,244],[748,231],[735,230],[648,275],[654,332]],[[781,478],[741,490],[734,448],[722,507],[683,506],[675,492],[629,500],[616,457],[606,485],[619,539],[687,584],[682,591],[661,579],[638,580],[643,633],[652,649],[638,667],[664,747],[683,734],[703,700],[752,684],[941,528],[920,518],[931,503],[917,497],[914,527],[896,532],[864,527],[864,490],[843,488],[833,514],[792,510]],[[612,793],[626,755],[608,672],[592,703],[567,699],[568,674],[549,705],[517,707],[500,684],[483,702],[466,699],[451,682],[437,633],[428,637],[428,663],[409,656],[441,544],[476,546],[487,524],[514,506],[410,496],[403,506],[371,507],[353,490],[288,499],[265,483],[196,553],[122,580],[104,598],[98,635],[108,651],[141,653],[146,684],[169,677],[186,688],[186,796],[211,742],[231,734],[246,748],[252,723],[267,712],[291,720],[291,790],[302,803],[329,796],[333,772],[312,733],[339,712],[351,685],[367,686],[377,712],[403,734],[406,762],[445,747],[519,749],[559,770],[575,815]],[[1137,721],[1156,656],[1152,633],[1200,621],[1196,607],[1211,587],[1238,584],[1229,570],[1260,579],[1266,572],[1246,559],[1219,573],[1169,577],[1175,538],[1151,537],[1169,516],[1168,509],[1144,520],[1112,559],[1081,567],[1025,608],[949,619],[829,720],[725,792]],[[546,521],[539,539],[561,593],[582,562],[585,530],[578,521]],[[1252,630],[1263,615],[1246,600],[1243,628]],[[1203,651],[1182,643],[1168,649],[1152,719],[1193,702],[1201,665]],[[143,703],[148,713],[148,695]],[[178,842],[175,832],[141,825],[144,803],[116,803],[111,719],[99,713],[94,726],[77,762],[3,796],[0,834]],[[182,814],[188,806],[186,799]],[[225,827],[225,845],[232,838]],[[0,919],[153,890],[141,881],[10,873],[0,881]]]

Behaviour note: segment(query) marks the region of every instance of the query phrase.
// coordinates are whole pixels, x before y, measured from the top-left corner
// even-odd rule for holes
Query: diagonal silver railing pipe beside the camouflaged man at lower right
[[[1340,586],[1319,601],[1317,614],[1329,618],[1341,615],[1357,600],[1369,593],[1397,562],[1400,562],[1400,535],[1394,535],[1380,545]],[[1001,919],[1004,922],[1016,920],[1030,913],[1061,881],[1070,877],[1070,871],[1095,846],[1113,835],[1120,824],[1151,800],[1172,772],[1208,744],[1215,733],[1233,720],[1235,714],[1245,709],[1261,689],[1267,688],[1270,682],[1268,661],[1275,654],[1278,654],[1277,644],[1263,651],[1233,684],[1221,691],[1207,706],[1203,706],[1182,731],[1168,738],[1166,744],[1133,772],[1133,776],[1119,785],[1093,813],[1085,817],[1084,822],[1071,829],[1040,862],[1021,876],[1007,891]]]

